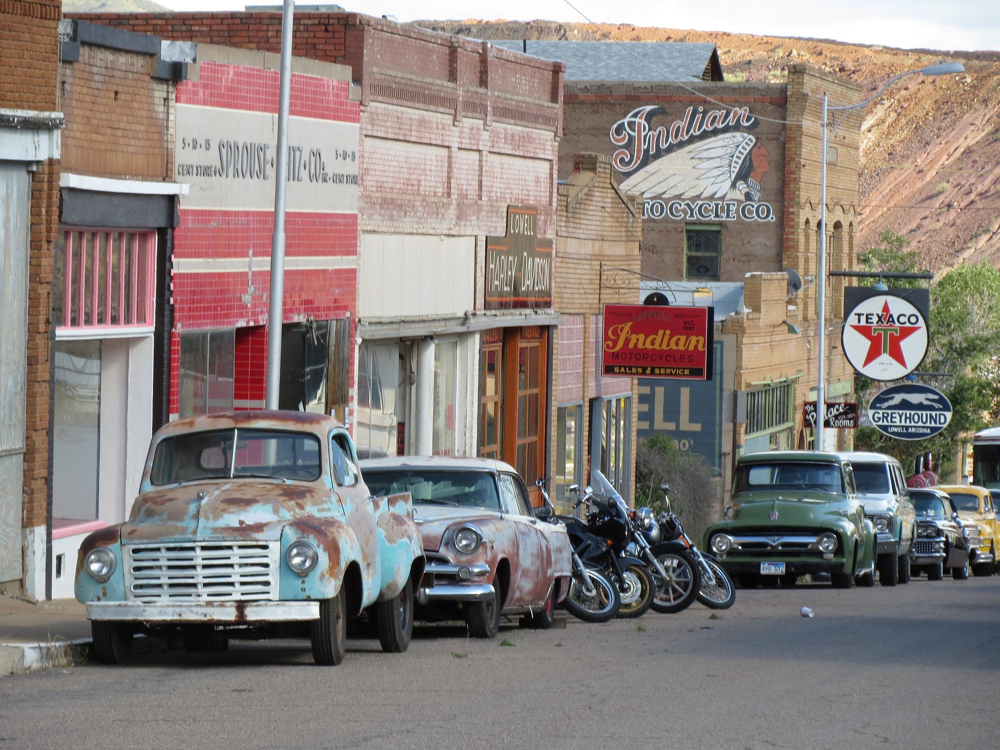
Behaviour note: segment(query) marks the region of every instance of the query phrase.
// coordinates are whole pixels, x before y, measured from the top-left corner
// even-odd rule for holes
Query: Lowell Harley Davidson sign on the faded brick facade
[[[507,208],[507,235],[486,238],[487,310],[552,307],[552,240],[536,234],[538,210]]]

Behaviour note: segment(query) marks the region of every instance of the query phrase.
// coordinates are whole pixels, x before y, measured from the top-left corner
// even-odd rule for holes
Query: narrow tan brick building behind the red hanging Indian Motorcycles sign
[[[600,469],[622,497],[635,493],[638,385],[601,374],[601,315],[606,303],[639,293],[642,200],[618,189],[611,159],[577,154],[559,183],[555,306],[560,313],[554,360],[553,501],[573,513],[566,489]]]

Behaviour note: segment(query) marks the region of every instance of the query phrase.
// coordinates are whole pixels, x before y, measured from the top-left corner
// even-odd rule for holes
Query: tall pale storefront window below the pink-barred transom
[[[52,515],[97,518],[101,342],[57,341],[53,356]]]

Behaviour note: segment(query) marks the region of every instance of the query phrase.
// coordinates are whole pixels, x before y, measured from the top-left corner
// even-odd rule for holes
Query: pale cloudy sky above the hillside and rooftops
[[[158,0],[180,11],[242,10],[281,0]],[[313,3],[321,0],[313,0]],[[340,0],[346,10],[416,19],[544,19],[627,23],[700,31],[807,36],[888,47],[1000,50],[996,0],[646,0],[620,6],[606,0]],[[581,15],[581,13],[583,15]]]

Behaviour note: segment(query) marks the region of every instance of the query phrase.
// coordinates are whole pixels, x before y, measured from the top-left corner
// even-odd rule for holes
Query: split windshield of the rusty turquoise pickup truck
[[[248,429],[191,432],[160,441],[150,482],[164,485],[231,477],[311,482],[319,479],[320,464],[319,439],[309,433]]]

